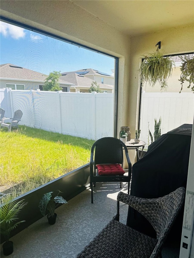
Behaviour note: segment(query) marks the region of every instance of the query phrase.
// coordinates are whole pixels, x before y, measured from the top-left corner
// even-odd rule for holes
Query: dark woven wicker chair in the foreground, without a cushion
[[[76,258],[156,258],[185,199],[185,188],[157,199],[137,198],[123,192],[117,196],[117,214]],[[119,202],[139,211],[152,224],[152,238],[119,222]]]

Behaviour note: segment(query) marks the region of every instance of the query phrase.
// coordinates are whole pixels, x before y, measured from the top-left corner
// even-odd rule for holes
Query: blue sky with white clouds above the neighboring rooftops
[[[39,73],[92,68],[112,74],[114,58],[0,22],[0,63]]]

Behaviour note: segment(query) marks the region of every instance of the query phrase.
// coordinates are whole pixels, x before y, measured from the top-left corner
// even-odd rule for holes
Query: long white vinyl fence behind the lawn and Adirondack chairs
[[[113,136],[113,93],[70,93],[0,89],[5,117],[17,109],[20,125],[97,140]]]

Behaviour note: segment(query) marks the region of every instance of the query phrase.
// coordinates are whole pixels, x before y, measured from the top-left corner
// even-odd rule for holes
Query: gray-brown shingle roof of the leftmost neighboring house
[[[46,78],[46,75],[43,73],[38,73],[26,68],[19,67],[14,64],[1,64],[0,65],[0,77],[1,78],[10,78],[17,80],[35,80],[43,82]],[[65,80],[60,80],[59,83],[72,84]]]

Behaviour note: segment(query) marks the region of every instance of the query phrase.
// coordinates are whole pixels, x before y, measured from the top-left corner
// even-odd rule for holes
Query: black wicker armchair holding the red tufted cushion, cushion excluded
[[[128,175],[99,175],[99,171],[96,167],[98,164],[121,164],[123,166],[123,149],[128,163]],[[95,156],[94,156],[95,150]],[[93,160],[94,159],[94,160]],[[128,194],[129,183],[131,180],[131,162],[126,145],[119,139],[113,137],[105,137],[97,140],[91,149],[90,157],[90,188],[91,198],[93,203],[93,184],[96,182],[128,182]]]

